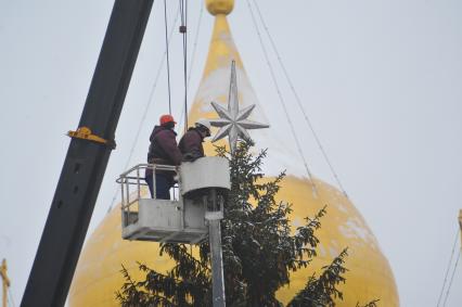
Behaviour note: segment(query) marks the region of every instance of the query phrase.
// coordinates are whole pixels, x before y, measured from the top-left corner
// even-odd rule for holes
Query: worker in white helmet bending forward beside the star
[[[210,123],[207,119],[198,119],[194,127],[188,129],[180,140],[179,149],[183,154],[183,161],[193,162],[204,156],[204,139],[210,137]]]

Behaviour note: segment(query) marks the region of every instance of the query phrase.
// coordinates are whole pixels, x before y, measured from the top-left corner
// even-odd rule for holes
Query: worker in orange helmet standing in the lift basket
[[[150,150],[147,152],[147,163],[158,165],[181,164],[182,155],[177,145],[177,133],[175,132],[175,121],[171,115],[162,115],[161,126],[155,126],[150,137]],[[175,171],[156,170],[155,172],[155,197],[159,200],[170,200],[170,188],[175,184]],[[147,168],[144,177],[151,192],[153,192],[153,169]]]

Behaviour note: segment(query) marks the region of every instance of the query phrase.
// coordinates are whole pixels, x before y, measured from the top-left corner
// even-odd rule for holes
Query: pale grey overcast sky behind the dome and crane
[[[172,21],[178,1],[167,2]],[[161,3],[153,8],[90,232],[112,203],[115,178],[125,170],[153,90],[165,48]],[[203,1],[189,3],[192,52]],[[401,306],[436,306],[462,208],[462,1],[258,3],[345,190],[390,263]],[[112,5],[110,0],[0,0],[0,258],[8,259],[16,305],[69,143],[65,133],[77,128]],[[270,124],[288,135],[246,0],[236,0],[229,20]],[[204,11],[191,98],[211,26]],[[174,39],[179,116],[181,38]],[[278,72],[312,172],[335,184]],[[165,79],[164,69],[130,164],[144,162],[152,125],[167,111]],[[447,306],[462,306],[461,265]]]

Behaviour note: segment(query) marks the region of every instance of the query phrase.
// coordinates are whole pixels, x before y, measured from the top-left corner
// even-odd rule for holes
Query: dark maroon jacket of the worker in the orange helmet
[[[180,165],[182,154],[177,145],[177,133],[172,129],[155,126],[150,137],[147,163],[163,165]],[[152,169],[146,169],[146,176],[152,176]]]

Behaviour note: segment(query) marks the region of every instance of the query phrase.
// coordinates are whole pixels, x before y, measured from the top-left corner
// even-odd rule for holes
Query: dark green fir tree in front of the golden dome
[[[265,180],[261,165],[267,151],[253,156],[249,149],[249,143],[241,142],[229,158],[231,191],[221,222],[226,300],[228,306],[283,306],[275,292],[288,284],[291,272],[307,267],[317,256],[315,232],[326,210],[307,217],[291,234],[291,205],[275,201],[285,174]],[[217,148],[217,154],[229,157],[224,148]],[[198,245],[197,258],[184,244],[162,244],[161,254],[176,261],[166,274],[139,264],[145,279],[133,281],[123,267],[126,282],[116,293],[121,306],[213,306],[208,242]],[[335,298],[343,298],[337,285],[345,283],[346,256],[344,250],[319,277],[308,278],[306,287],[287,306],[334,306]],[[375,300],[365,306],[375,306]]]

